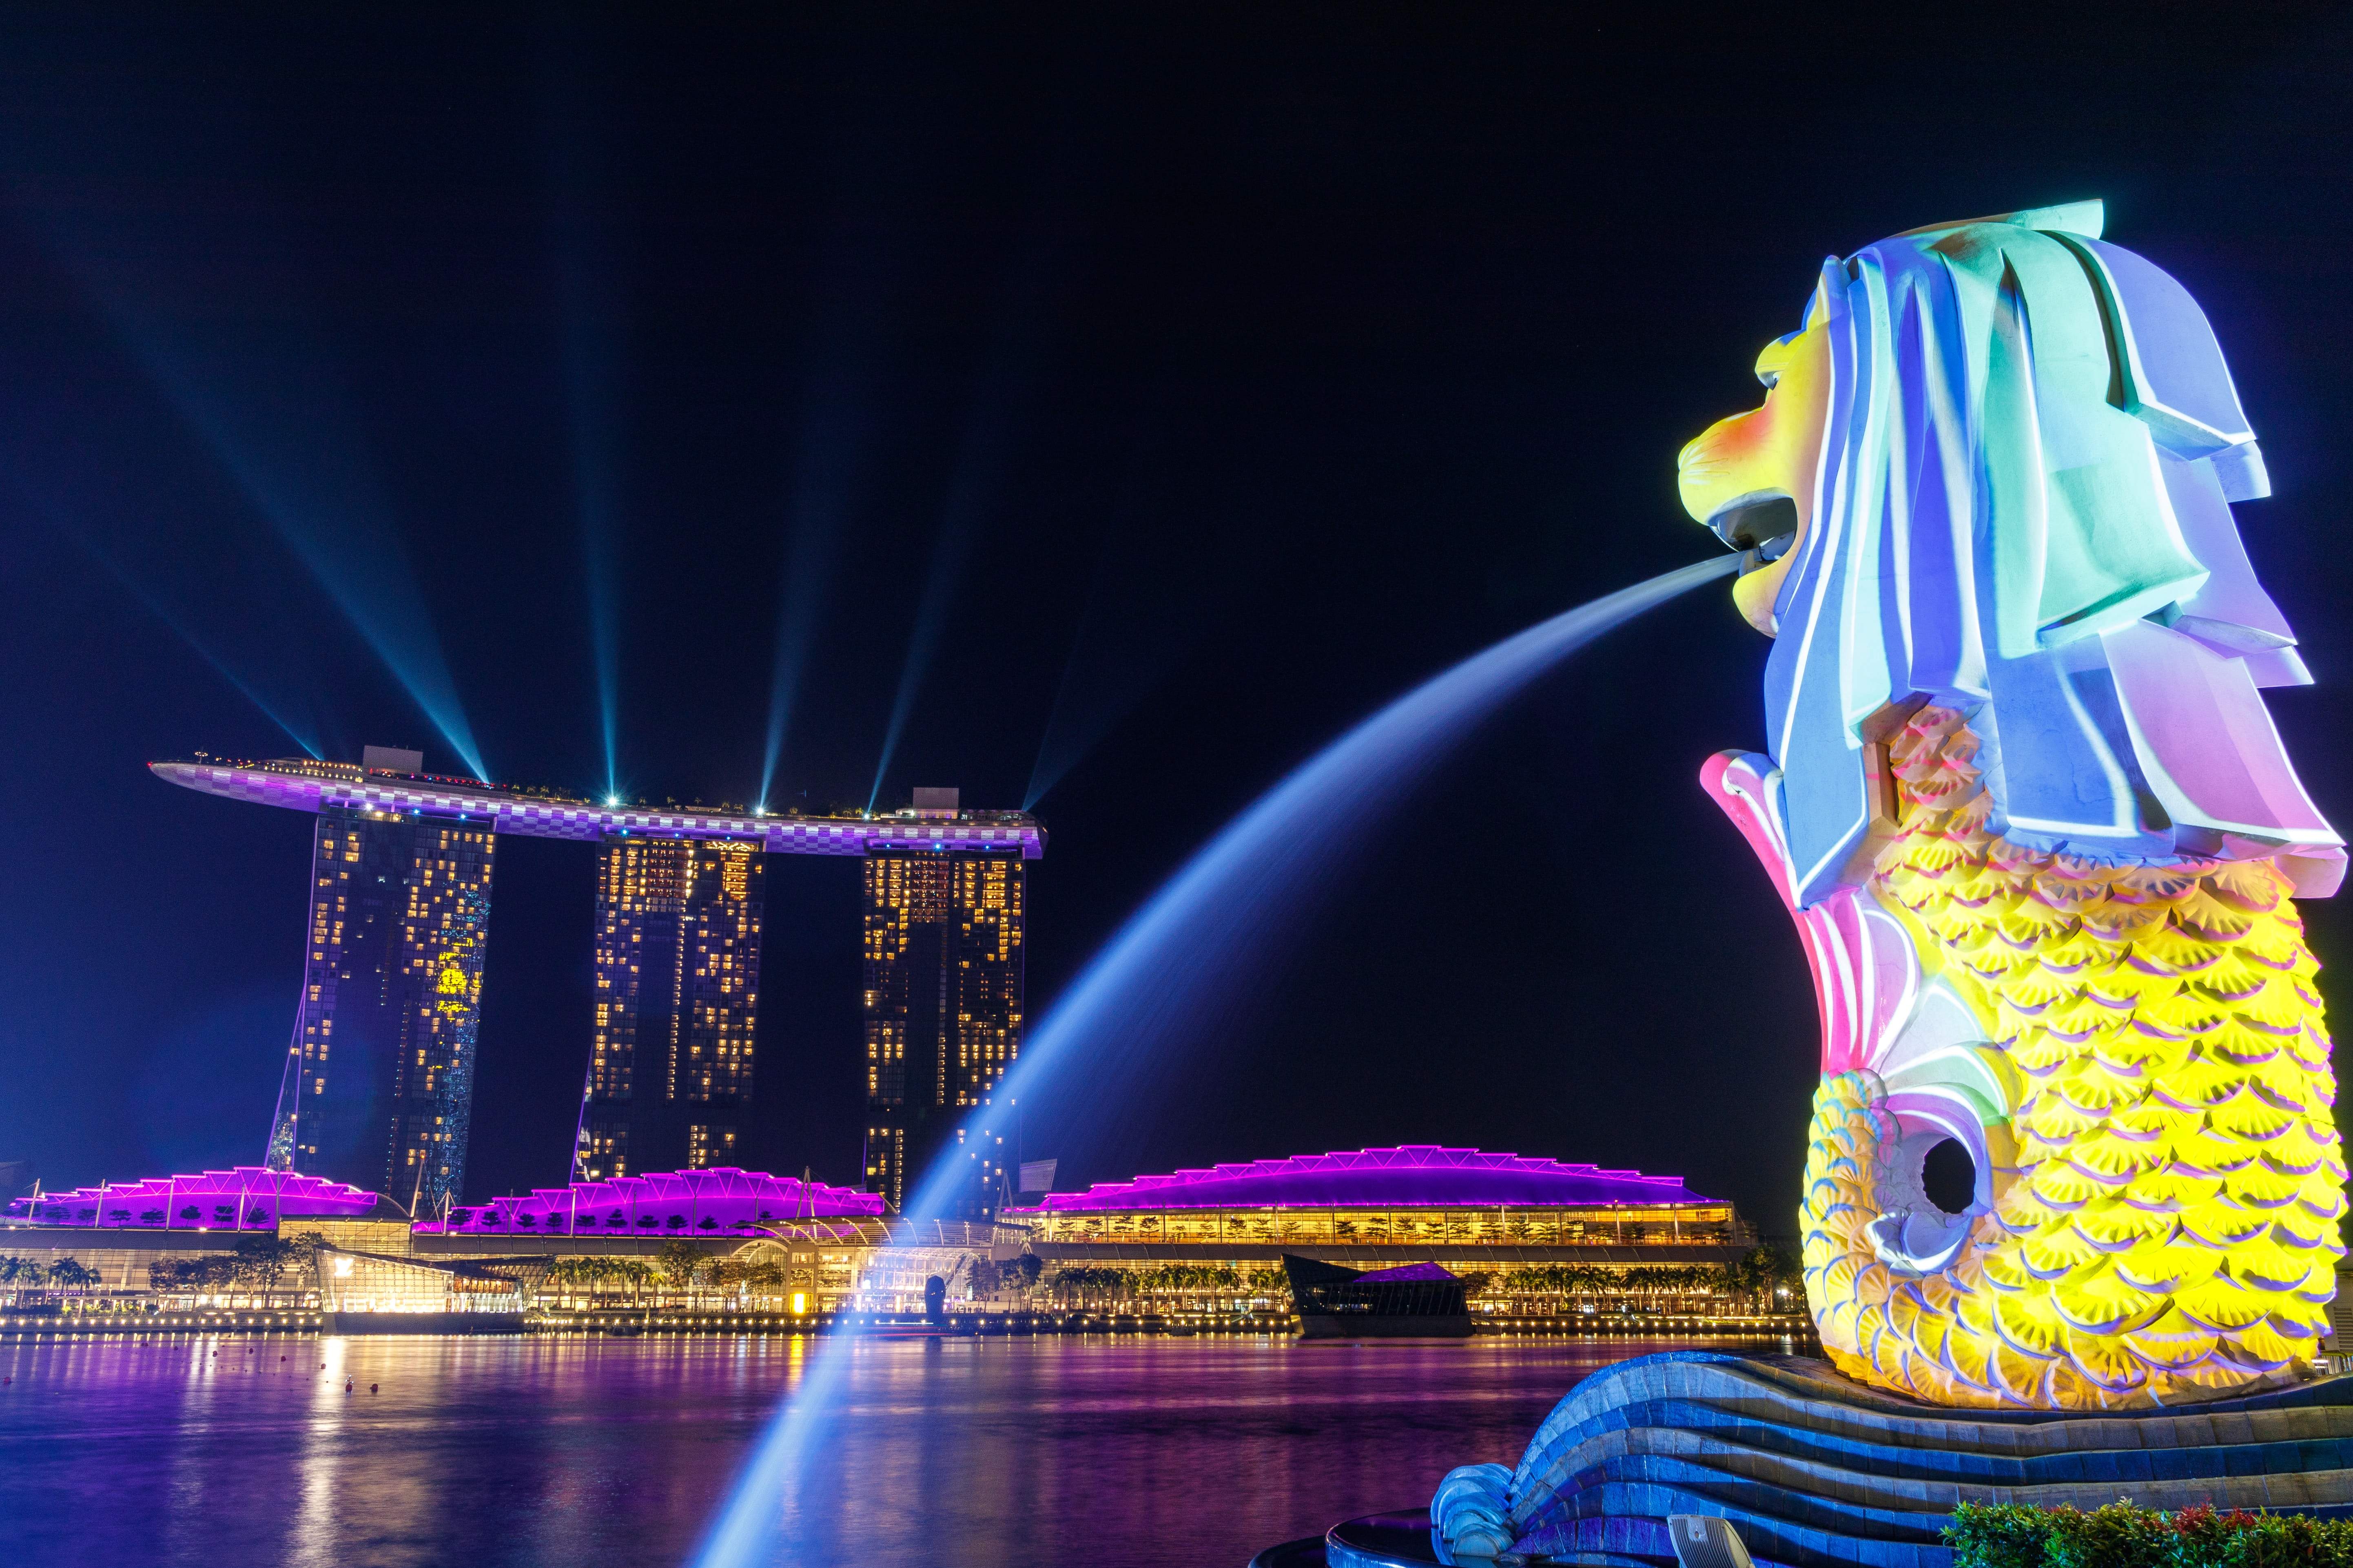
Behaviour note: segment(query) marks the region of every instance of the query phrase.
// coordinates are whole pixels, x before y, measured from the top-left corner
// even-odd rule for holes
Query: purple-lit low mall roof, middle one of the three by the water
[[[882,1218],[882,1194],[828,1187],[767,1171],[661,1171],[614,1175],[529,1197],[492,1199],[426,1220],[419,1232],[449,1237],[666,1237],[746,1232],[760,1225],[849,1222]]]

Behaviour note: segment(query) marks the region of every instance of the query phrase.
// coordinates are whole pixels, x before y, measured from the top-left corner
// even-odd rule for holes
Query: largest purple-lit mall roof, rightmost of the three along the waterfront
[[[1292,1154],[1209,1171],[1096,1182],[1052,1192],[1019,1213],[1139,1208],[1584,1208],[1593,1204],[1713,1204],[1680,1175],[1565,1166],[1527,1154],[1485,1154],[1409,1143],[1353,1154]]]

